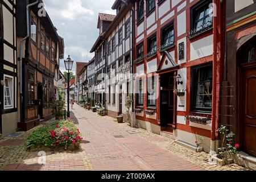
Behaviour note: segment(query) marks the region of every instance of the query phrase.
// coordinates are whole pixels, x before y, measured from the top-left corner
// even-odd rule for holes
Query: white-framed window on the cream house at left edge
[[[14,107],[13,103],[13,77],[5,76],[5,86],[4,86],[4,94],[5,98],[5,109],[12,109]]]

